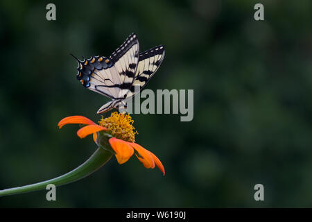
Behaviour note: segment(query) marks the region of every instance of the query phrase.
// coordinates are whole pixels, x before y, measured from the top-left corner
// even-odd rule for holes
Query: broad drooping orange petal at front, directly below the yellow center
[[[125,142],[122,139],[112,137],[108,142],[110,142],[110,146],[112,146],[113,150],[116,152],[115,156],[119,164],[127,162],[135,152],[128,142]]]

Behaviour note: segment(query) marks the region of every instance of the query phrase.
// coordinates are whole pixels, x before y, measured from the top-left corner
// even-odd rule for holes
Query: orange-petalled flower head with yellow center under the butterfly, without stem
[[[119,164],[127,162],[135,153],[139,161],[144,164],[144,167],[153,169],[156,165],[162,171],[163,175],[165,174],[162,162],[160,162],[153,153],[135,143],[135,134],[137,134],[137,132],[132,126],[133,120],[129,114],[113,112],[111,116],[106,119],[102,117],[101,121],[99,121],[99,125],[83,116],[66,117],[58,123],[58,126],[62,128],[62,126],[70,123],[87,125],[80,128],[80,130],[77,131],[77,135],[80,138],[84,138],[87,135],[93,134],[95,143],[98,136],[96,133],[100,131],[104,130],[108,136],[112,135],[112,137],[108,139],[108,142]]]

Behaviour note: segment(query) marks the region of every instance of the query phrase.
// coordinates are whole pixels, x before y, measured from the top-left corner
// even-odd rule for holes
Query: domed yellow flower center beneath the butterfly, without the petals
[[[134,120],[130,114],[123,114],[119,112],[112,112],[110,117],[98,121],[100,126],[107,128],[107,133],[128,142],[135,142],[135,135],[137,130],[132,126]]]

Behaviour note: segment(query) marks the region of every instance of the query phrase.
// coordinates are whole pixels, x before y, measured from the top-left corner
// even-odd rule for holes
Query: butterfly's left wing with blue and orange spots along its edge
[[[83,86],[110,99],[125,98],[135,78],[138,61],[139,41],[132,33],[110,58],[92,56],[88,60],[78,60],[77,78]]]

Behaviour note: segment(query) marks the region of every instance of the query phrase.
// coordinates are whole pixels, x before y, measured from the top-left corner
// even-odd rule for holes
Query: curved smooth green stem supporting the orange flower
[[[103,148],[98,148],[89,159],[81,164],[76,169],[73,169],[69,173],[65,173],[62,176],[59,176],[58,178],[54,178],[51,180],[46,180],[43,182],[37,182],[33,185],[26,185],[23,187],[14,187],[10,189],[3,189],[0,190],[0,196],[6,196],[11,194],[21,194],[26,193],[30,191],[37,191],[40,189],[45,189],[46,185],[53,184],[55,186],[60,185],[66,185],[70,182],[74,182],[76,180],[80,180],[82,178],[85,178],[89,174],[93,173],[94,171],[97,171],[103,165],[110,160],[110,157],[112,157],[112,153],[110,151],[106,151]]]

